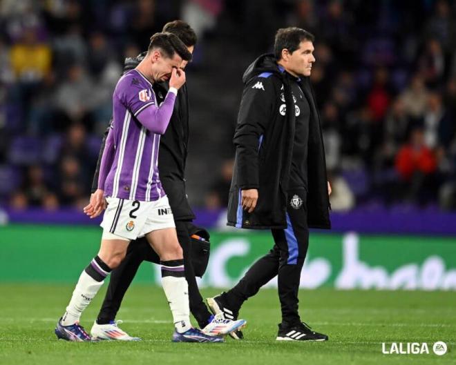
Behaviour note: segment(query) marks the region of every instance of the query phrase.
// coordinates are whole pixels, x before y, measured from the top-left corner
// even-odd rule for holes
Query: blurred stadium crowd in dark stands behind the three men
[[[208,83],[208,64],[227,47],[236,50],[230,63],[245,68],[271,50],[278,28],[315,34],[312,82],[334,210],[456,209],[456,3],[447,0],[3,0],[2,204],[84,206],[124,57],[146,49],[154,32],[178,18],[200,39],[188,73]],[[232,120],[220,126],[229,146],[242,73],[226,66],[216,68],[226,95],[234,95]],[[196,100],[191,115],[203,108]],[[191,130],[208,125],[191,117]],[[192,153],[207,157],[198,148]],[[211,154],[230,157],[216,148]],[[230,168],[219,166],[220,177],[207,169],[207,197],[196,205],[225,205]]]

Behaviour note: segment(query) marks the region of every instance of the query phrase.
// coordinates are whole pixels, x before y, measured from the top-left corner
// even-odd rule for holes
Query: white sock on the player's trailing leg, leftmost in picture
[[[82,271],[81,276],[76,284],[73,296],[71,297],[70,304],[66,307],[66,313],[61,319],[63,326],[70,326],[79,321],[82,311],[86,309],[88,304],[92,301],[93,297],[97,295],[99,288],[104,284],[97,282],[93,277]]]

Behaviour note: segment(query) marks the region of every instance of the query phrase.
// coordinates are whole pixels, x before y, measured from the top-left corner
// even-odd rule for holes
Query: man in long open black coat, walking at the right
[[[243,302],[277,275],[282,310],[278,340],[327,340],[298,314],[309,227],[330,228],[330,186],[309,80],[313,41],[303,29],[280,29],[274,55],[260,56],[244,74],[228,225],[269,228],[275,245],[234,288],[207,299],[213,313],[236,319]],[[240,331],[232,336],[243,337]]]

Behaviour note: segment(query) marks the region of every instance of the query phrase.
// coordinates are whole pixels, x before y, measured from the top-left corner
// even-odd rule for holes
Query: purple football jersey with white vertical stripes
[[[113,144],[114,156],[102,158],[99,176],[99,188],[106,196],[140,201],[164,197],[158,175],[159,133],[166,130],[174,101],[175,93],[170,91],[158,106],[151,82],[136,69],[117,82],[105,148],[108,153],[108,143]]]

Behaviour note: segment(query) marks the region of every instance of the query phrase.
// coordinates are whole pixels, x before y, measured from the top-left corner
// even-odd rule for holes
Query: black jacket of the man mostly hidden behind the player
[[[124,73],[135,68],[144,58],[146,52],[138,57],[125,60]],[[168,83],[154,85],[154,90],[161,88],[162,92],[168,92]],[[111,123],[110,123],[111,124]],[[109,126],[104,132],[102,148],[99,151],[97,168],[93,177],[92,193],[97,190],[99,164],[102,161],[104,145],[108,136]],[[171,116],[169,126],[160,137],[160,150],[158,153],[158,170],[160,181],[169,199],[169,205],[173,211],[175,220],[190,221],[195,215],[187,201],[185,193],[185,163],[187,161],[187,145],[189,141],[189,98],[187,84],[178,90],[178,97],[175,99],[174,112]]]

